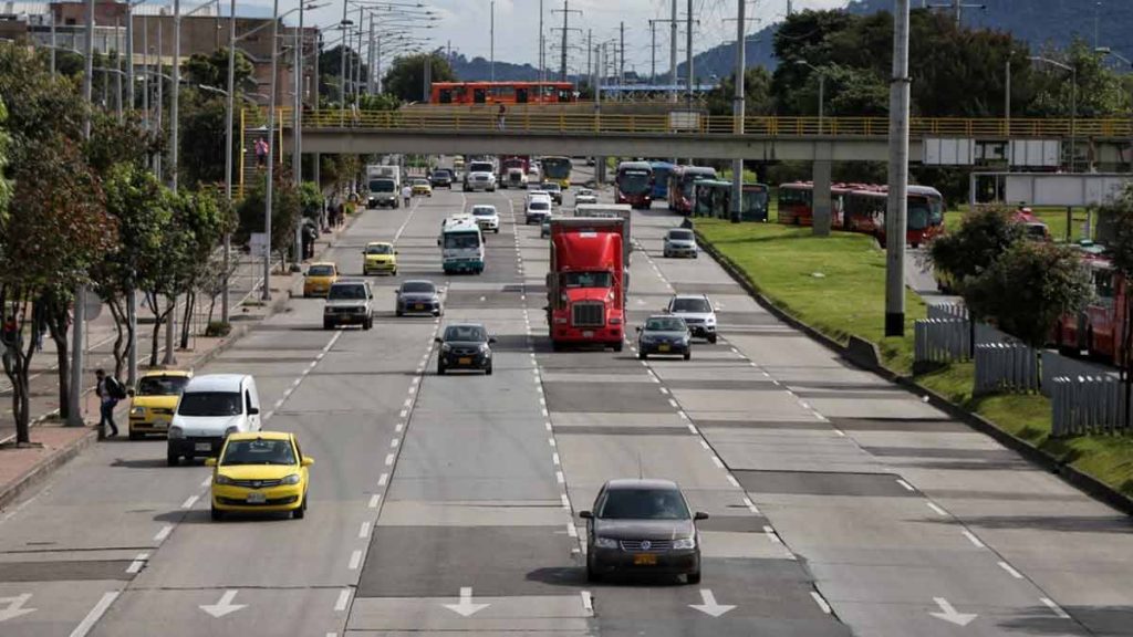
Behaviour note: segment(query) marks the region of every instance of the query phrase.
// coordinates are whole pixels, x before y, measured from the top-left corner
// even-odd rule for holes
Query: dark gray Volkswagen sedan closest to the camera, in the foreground
[[[612,479],[602,486],[587,520],[586,577],[615,572],[683,575],[700,581],[700,534],[676,483],[667,479]]]

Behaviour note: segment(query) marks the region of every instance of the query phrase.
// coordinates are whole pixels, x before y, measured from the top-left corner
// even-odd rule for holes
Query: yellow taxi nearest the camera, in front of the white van
[[[213,467],[212,519],[228,511],[307,512],[309,469],[315,462],[304,456],[299,440],[288,432],[241,432],[229,434]]]

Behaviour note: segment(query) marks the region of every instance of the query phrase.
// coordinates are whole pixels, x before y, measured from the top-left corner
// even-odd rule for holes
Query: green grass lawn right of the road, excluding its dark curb
[[[912,374],[912,323],[925,317],[925,304],[908,292],[906,336],[884,337],[885,253],[871,238],[846,232],[816,238],[810,228],[715,219],[698,219],[697,231],[776,306],[840,342],[851,334],[874,341],[887,367]],[[1048,399],[1030,394],[973,398],[973,375],[971,363],[957,363],[915,380],[1133,496],[1133,436],[1051,439]]]

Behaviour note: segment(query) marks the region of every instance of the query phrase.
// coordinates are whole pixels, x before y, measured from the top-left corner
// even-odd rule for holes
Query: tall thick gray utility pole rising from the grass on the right
[[[905,214],[909,211],[909,0],[893,12],[889,84],[889,196],[885,213],[885,336],[905,333]]]

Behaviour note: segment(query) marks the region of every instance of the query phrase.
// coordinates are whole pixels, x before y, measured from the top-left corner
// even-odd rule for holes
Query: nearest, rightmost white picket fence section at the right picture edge
[[[1125,388],[1111,375],[1056,376],[1050,407],[1050,432],[1055,438],[1127,431]]]

